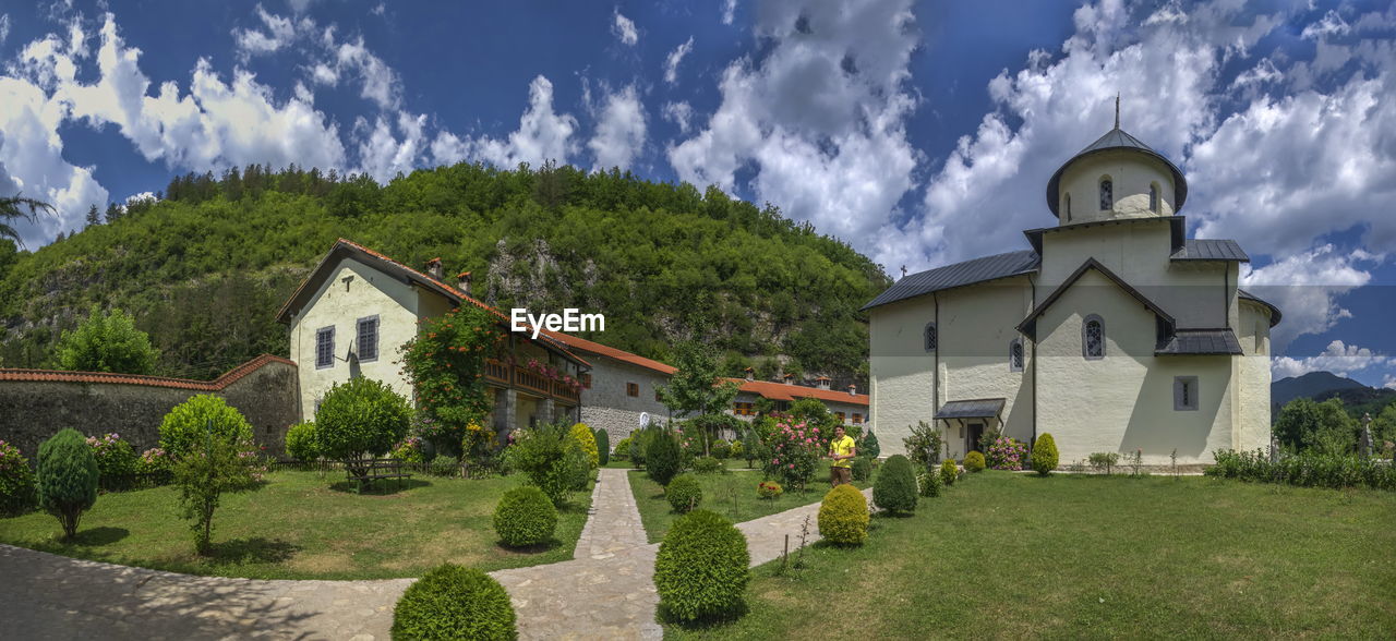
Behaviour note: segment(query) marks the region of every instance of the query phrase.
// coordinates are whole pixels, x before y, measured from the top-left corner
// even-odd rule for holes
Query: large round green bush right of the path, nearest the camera
[[[655,559],[659,605],[680,620],[722,616],[741,605],[751,578],[747,538],[727,520],[694,510],[674,521]]]

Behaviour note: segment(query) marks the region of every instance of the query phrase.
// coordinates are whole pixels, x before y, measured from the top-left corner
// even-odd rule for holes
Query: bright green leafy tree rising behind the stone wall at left
[[[94,303],[77,330],[59,339],[59,364],[73,371],[152,374],[159,353],[135,318],[116,309],[103,314]]]

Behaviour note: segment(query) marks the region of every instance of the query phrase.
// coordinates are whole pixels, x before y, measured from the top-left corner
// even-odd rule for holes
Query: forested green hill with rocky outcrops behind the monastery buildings
[[[596,341],[666,359],[697,338],[738,374],[771,358],[850,376],[867,355],[857,309],[881,268],[811,226],[720,190],[546,165],[455,165],[398,176],[258,166],[170,182],[165,200],[109,207],[103,222],[38,251],[0,240],[0,366],[54,367],[87,309],[121,307],[162,351],[159,373],[211,378],[286,353],[274,320],[336,237],[447,274],[503,307],[606,314]]]

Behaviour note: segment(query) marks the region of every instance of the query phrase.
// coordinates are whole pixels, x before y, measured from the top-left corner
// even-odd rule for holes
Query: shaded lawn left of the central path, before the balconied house
[[[56,518],[32,513],[0,518],[0,542],[98,561],[188,574],[248,578],[420,577],[451,561],[486,571],[572,557],[591,492],[572,493],[556,540],[529,550],[497,543],[494,506],[521,475],[480,480],[417,476],[381,493],[346,490],[343,473],[278,471],[268,483],[225,494],[214,515],[214,553],[194,553],[177,490],[102,494],[82,515],[78,536],[59,540]]]

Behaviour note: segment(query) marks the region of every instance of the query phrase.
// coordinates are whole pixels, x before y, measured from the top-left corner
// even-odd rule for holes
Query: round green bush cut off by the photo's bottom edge
[[[498,581],[473,567],[438,566],[408,587],[392,610],[392,638],[515,640],[517,617]]]

